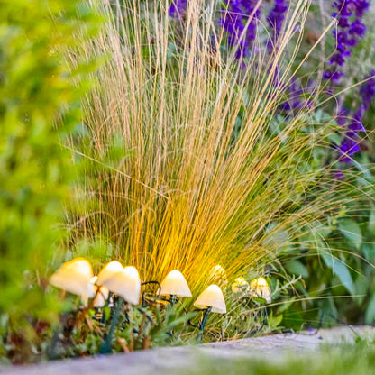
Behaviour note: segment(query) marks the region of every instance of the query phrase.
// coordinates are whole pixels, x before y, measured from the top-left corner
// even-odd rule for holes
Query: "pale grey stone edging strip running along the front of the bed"
[[[316,351],[321,343],[352,341],[356,334],[374,336],[371,327],[337,327],[317,334],[273,334],[224,343],[206,343],[197,346],[160,348],[150,351],[113,354],[95,358],[52,361],[39,365],[0,368],[0,375],[164,375],[184,370],[200,357],[217,358],[257,357],[282,360],[288,352]]]

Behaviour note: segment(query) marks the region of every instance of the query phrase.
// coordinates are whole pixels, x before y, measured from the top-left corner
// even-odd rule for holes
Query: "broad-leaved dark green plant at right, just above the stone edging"
[[[373,194],[372,188],[368,191]],[[283,325],[298,329],[375,321],[375,236],[370,230],[374,208],[370,194],[327,217],[325,225],[330,231],[322,233],[317,242],[304,242],[300,252],[293,252],[298,260],[285,261],[288,274],[303,279],[294,284],[295,296],[284,298],[306,300],[288,305]]]

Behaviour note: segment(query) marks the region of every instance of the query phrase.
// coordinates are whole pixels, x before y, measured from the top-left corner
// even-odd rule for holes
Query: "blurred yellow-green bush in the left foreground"
[[[14,329],[54,317],[45,270],[61,240],[71,177],[60,141],[80,121],[87,62],[71,71],[68,50],[95,32],[80,0],[0,5],[0,315]],[[34,331],[23,331],[34,334]]]

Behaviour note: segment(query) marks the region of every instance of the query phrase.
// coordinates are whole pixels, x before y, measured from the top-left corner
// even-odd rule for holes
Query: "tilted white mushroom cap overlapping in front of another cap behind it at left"
[[[103,286],[126,302],[138,305],[141,296],[141,279],[135,267],[128,266],[106,278]]]

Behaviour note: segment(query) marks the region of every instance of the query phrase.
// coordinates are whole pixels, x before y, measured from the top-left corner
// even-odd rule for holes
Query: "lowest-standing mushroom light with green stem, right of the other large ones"
[[[209,313],[226,313],[226,306],[222,289],[215,284],[210,285],[197,297],[196,302],[194,302],[194,306],[196,306],[200,310],[204,310],[204,314],[198,325],[198,328],[200,330],[200,337],[202,338]]]

